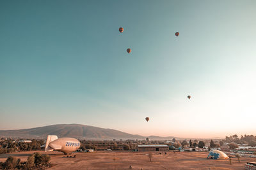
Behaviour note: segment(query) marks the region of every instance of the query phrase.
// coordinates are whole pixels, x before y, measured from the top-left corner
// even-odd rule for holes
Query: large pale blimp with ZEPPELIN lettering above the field
[[[48,135],[45,144],[45,152],[58,150],[67,155],[80,148],[80,142],[75,138],[59,138],[56,135]]]

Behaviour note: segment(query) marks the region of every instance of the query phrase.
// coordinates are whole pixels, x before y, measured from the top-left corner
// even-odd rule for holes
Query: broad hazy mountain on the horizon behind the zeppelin
[[[80,124],[59,124],[47,125],[44,127],[35,127],[31,129],[0,131],[0,137],[11,138],[46,138],[48,134],[61,137],[79,138],[79,139],[146,139],[145,136],[128,134],[113,129],[104,129],[90,125]],[[172,139],[173,137],[151,136],[152,140]],[[148,137],[151,139],[150,137]]]

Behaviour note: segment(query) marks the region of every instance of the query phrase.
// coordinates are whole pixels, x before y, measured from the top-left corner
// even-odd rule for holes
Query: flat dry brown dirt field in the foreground
[[[38,151],[45,153],[44,151]],[[0,161],[8,156],[19,157],[25,161],[33,152],[6,153],[0,155]],[[152,162],[149,162],[147,152],[92,152],[73,153],[76,158],[63,157],[61,152],[50,152],[52,167],[49,169],[244,169],[246,161],[256,162],[254,158],[241,157],[229,160],[206,159],[207,152],[167,152],[157,154],[152,152]]]

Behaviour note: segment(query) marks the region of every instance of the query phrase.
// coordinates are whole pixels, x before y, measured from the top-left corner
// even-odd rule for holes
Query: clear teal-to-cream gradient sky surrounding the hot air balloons
[[[0,129],[255,135],[255,9],[253,0],[0,1]]]

